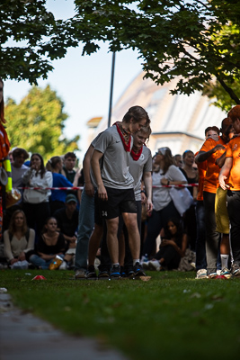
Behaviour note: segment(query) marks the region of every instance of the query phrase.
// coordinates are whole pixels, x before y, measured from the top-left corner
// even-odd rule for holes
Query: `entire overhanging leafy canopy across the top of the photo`
[[[237,0],[75,0],[75,4],[72,19],[56,21],[46,10],[46,0],[1,1],[4,79],[36,84],[39,77],[47,78],[50,60],[64,57],[69,46],[80,41],[83,54],[91,54],[103,40],[111,51],[138,49],[146,77],[156,84],[177,77],[172,94],[191,94],[208,85],[206,94],[222,98],[218,106],[240,103]],[[211,80],[217,81],[217,90],[209,86]]]

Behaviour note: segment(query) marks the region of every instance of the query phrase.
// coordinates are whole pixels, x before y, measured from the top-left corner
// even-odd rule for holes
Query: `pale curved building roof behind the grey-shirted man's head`
[[[204,140],[204,131],[209,126],[218,126],[227,113],[214,106],[207,96],[196,91],[191,95],[170,94],[177,79],[164,85],[156,85],[151,79],[143,80],[141,72],[128,86],[115,104],[111,124],[121,121],[129,107],[140,105],[146,109],[151,120],[152,135],[149,148],[155,151],[169,146],[174,153],[185,147],[198,151]],[[107,128],[107,117],[102,118],[94,135]]]

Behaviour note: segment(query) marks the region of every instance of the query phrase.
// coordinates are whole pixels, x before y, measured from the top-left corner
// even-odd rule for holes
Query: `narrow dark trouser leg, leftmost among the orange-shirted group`
[[[203,201],[196,205],[197,239],[196,239],[196,270],[207,269],[206,261],[206,230],[205,210]]]

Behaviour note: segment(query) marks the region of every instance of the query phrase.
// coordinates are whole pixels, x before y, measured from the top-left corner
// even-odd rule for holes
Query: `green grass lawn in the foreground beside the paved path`
[[[27,275],[31,273],[31,275]],[[32,281],[44,275],[46,281]],[[130,359],[237,359],[240,279],[147,272],[141,280],[69,280],[73,272],[0,271],[15,305],[67,333],[99,339]]]

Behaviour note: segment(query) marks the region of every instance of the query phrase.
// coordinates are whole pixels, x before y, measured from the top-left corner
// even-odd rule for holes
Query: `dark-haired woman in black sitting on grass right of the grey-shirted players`
[[[187,244],[188,238],[183,232],[180,220],[168,220],[162,236],[160,250],[154,259],[143,263],[144,268],[156,271],[177,269],[181,258],[185,255]]]

